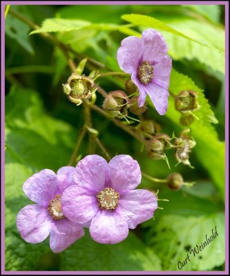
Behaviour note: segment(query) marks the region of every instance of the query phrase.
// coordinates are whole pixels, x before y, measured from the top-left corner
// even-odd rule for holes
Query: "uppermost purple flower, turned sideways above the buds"
[[[172,61],[166,55],[168,46],[160,32],[144,30],[142,38],[126,37],[117,50],[117,61],[124,72],[139,88],[139,107],[144,105],[148,94],[155,109],[164,115],[169,102],[169,79]]]

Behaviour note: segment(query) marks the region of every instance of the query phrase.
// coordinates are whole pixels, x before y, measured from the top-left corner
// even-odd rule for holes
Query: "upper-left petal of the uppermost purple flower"
[[[119,67],[128,74],[133,74],[140,66],[140,58],[143,53],[143,43],[138,37],[126,37],[122,40],[122,46],[117,50]]]

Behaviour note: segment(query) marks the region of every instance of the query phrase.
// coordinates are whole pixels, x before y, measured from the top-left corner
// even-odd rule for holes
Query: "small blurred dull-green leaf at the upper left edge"
[[[30,27],[26,25],[26,23],[23,23],[19,19],[12,17],[11,14],[8,14],[5,26],[6,35],[8,35],[11,39],[15,39],[15,41],[17,41],[22,48],[24,48],[31,55],[34,55],[35,52],[28,37],[29,30]]]

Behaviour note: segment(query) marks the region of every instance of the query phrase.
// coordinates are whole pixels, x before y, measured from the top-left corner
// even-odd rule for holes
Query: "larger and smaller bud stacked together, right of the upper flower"
[[[198,103],[198,93],[193,90],[183,90],[175,97],[175,109],[182,113],[180,123],[184,126],[189,126],[194,119],[198,119],[193,114],[200,108]]]

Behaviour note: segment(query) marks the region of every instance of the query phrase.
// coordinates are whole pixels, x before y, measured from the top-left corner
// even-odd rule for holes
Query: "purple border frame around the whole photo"
[[[5,226],[5,19],[6,5],[224,5],[225,6],[225,270],[224,271],[6,271],[1,228],[2,275],[228,275],[229,274],[229,2],[228,1],[1,1],[1,226]]]

